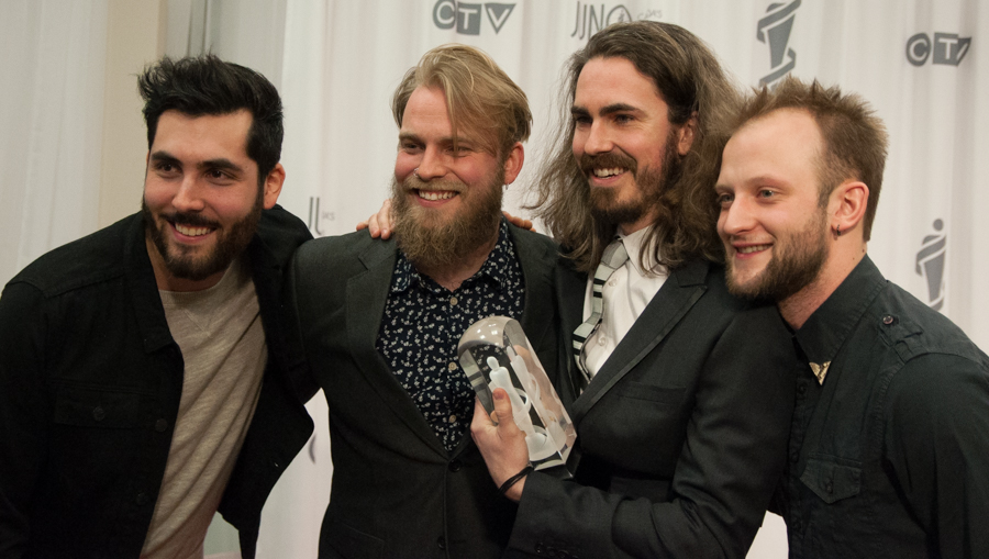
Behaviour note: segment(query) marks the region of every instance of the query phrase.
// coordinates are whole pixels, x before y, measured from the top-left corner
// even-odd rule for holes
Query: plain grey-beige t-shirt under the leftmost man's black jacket
[[[141,557],[201,558],[257,405],[268,350],[243,258],[210,289],[159,294],[186,367],[165,478]]]

